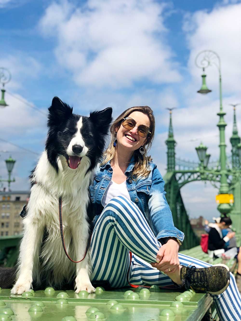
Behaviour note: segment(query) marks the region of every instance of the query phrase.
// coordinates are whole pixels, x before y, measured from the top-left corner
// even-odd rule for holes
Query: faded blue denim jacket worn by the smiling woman
[[[150,174],[146,178],[138,178],[137,181],[131,178],[134,165],[133,156],[125,171],[126,185],[131,201],[143,213],[157,239],[174,237],[182,242],[184,234],[174,227],[172,213],[165,198],[165,183],[156,164],[149,162]],[[110,161],[100,166],[95,173],[94,182],[90,186],[91,207],[95,214],[93,224],[96,223],[103,210],[101,200],[111,182],[112,171]]]

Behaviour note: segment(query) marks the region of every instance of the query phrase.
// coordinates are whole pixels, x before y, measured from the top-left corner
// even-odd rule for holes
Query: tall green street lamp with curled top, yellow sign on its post
[[[226,113],[223,111],[222,106],[222,78],[221,78],[221,61],[219,55],[212,50],[203,50],[201,51],[195,59],[195,64],[198,68],[201,68],[204,72],[204,68],[207,68],[211,65],[215,65],[218,68],[219,72],[219,112],[217,115],[219,116],[219,123],[217,126],[219,127],[219,149],[220,149],[220,188],[219,194],[228,194],[229,186],[227,181],[227,168],[226,168],[226,144],[225,144],[225,127],[227,124],[224,121],[224,115]],[[199,93],[207,94],[210,90],[206,86],[206,75],[203,73],[202,75],[202,87]],[[229,213],[231,211],[230,204],[219,204],[218,210],[220,213]]]

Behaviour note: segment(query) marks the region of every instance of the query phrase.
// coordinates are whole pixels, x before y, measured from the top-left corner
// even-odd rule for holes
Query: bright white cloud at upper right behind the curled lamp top
[[[183,20],[190,49],[189,71],[197,81],[198,72],[195,57],[201,50],[213,50],[221,58],[223,92],[237,92],[241,86],[241,3],[215,6],[211,12],[188,13]],[[213,60],[218,62],[216,58]],[[215,66],[206,69],[207,84],[217,88],[218,70]],[[200,79],[198,80],[200,82]]]

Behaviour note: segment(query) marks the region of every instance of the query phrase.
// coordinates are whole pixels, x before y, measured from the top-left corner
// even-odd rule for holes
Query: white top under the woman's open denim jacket
[[[121,184],[117,184],[111,180],[109,186],[104,192],[101,204],[105,207],[105,205],[108,204],[115,196],[126,196],[130,200],[130,195],[126,186],[126,180]]]

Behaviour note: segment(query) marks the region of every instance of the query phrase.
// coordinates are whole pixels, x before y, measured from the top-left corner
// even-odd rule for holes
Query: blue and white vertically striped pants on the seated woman
[[[137,285],[172,285],[172,280],[150,263],[156,262],[161,247],[144,215],[136,204],[126,197],[114,197],[97,220],[91,239],[92,281],[108,281],[113,288],[129,286],[127,272],[130,264],[129,251],[133,253],[129,282]],[[208,267],[210,264],[178,254],[181,265]],[[241,296],[234,276],[226,291],[213,295],[214,303],[223,321],[241,320]]]

